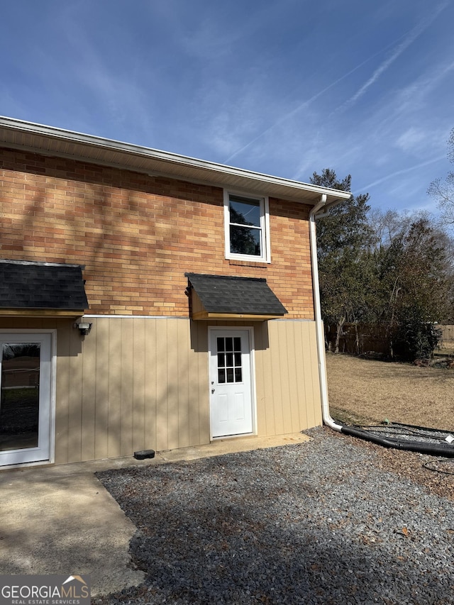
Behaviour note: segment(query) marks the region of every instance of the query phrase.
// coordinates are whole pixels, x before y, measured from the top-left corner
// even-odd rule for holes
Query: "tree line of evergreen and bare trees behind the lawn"
[[[451,140],[454,148],[454,131]],[[341,180],[331,169],[314,172],[311,183],[351,190],[350,174]],[[454,187],[450,193],[454,219]],[[454,323],[454,240],[428,213],[371,211],[368,202],[369,194],[352,196],[317,221],[321,313],[335,331],[329,344],[338,352],[345,324],[357,337],[358,326],[375,326],[389,357],[430,357],[439,325]]]

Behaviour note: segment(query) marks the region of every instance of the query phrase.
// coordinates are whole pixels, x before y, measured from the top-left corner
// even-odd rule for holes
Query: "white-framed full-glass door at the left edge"
[[[52,335],[0,333],[0,465],[50,460]]]

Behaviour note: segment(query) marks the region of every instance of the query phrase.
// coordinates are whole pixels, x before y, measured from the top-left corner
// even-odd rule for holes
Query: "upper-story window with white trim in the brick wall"
[[[226,258],[270,262],[268,199],[224,192]]]

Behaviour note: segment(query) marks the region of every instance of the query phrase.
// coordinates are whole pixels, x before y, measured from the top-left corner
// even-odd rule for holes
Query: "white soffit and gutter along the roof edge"
[[[172,177],[214,187],[240,189],[245,192],[299,201],[303,204],[316,204],[321,194],[326,194],[328,204],[350,197],[350,193],[336,189],[326,189],[268,174],[196,160],[175,153],[1,116],[0,146],[68,157],[152,176]]]

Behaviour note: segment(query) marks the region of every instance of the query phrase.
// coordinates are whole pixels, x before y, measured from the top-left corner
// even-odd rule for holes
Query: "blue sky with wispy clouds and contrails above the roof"
[[[435,211],[454,0],[4,0],[0,115]]]

